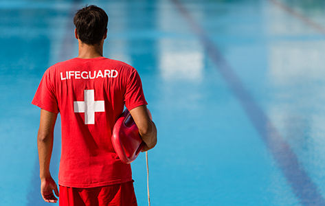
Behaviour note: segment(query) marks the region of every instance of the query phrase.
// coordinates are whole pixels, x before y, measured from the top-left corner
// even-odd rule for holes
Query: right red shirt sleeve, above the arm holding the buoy
[[[137,73],[137,70],[135,69],[131,71],[131,75],[126,81],[124,101],[128,111],[131,111],[131,109],[137,106],[148,104],[144,98],[144,91],[142,89],[142,82],[139,73]]]

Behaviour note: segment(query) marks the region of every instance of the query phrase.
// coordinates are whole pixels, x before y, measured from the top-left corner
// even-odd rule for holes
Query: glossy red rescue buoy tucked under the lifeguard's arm
[[[150,111],[148,113],[151,118]],[[139,135],[139,129],[127,109],[115,122],[112,143],[115,152],[124,163],[134,161],[144,146],[144,141]]]

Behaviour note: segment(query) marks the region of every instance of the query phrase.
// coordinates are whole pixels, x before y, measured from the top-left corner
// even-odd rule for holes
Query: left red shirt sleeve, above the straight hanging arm
[[[54,82],[51,81],[49,69],[47,69],[38,85],[32,104],[43,108],[46,111],[58,113],[58,101],[56,99],[53,85]]]

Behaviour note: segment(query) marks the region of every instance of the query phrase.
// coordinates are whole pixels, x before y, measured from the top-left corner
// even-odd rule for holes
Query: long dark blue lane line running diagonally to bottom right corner
[[[185,17],[186,21],[188,21],[194,33],[197,34],[208,56],[210,56],[212,62],[216,65],[216,69],[221,73],[229,89],[231,89],[238,102],[243,106],[245,113],[258,131],[260,137],[262,137],[262,140],[265,142],[269,152],[273,155],[276,163],[278,163],[278,167],[287,179],[287,182],[300,203],[302,203],[302,205],[314,206],[325,205],[325,199],[322,194],[320,194],[317,185],[313,183],[307,172],[302,168],[302,165],[300,165],[298,158],[289,144],[280,133],[278,133],[276,127],[273,126],[269,117],[262,111],[262,108],[260,108],[256,100],[254,100],[251,93],[247,91],[245,85],[240,78],[238,78],[234,69],[229,65],[229,62],[225,60],[218,47],[179,0],[171,1],[175,4],[175,7],[183,17]]]

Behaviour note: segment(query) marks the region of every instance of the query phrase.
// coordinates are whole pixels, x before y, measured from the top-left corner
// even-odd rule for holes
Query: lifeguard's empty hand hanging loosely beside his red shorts
[[[56,203],[56,201],[58,201],[58,198],[56,198],[56,196],[53,194],[53,190],[56,196],[58,196],[58,187],[54,179],[52,179],[52,176],[41,179],[41,194],[45,202]]]

